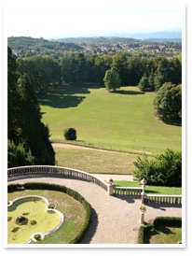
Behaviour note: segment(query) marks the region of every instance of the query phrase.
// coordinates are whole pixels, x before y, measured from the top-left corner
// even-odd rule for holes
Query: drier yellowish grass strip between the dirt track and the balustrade
[[[96,174],[132,174],[137,155],[53,144],[57,165]]]

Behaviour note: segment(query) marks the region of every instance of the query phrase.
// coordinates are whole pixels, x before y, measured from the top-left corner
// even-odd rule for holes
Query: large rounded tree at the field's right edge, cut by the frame
[[[158,89],[153,105],[155,115],[160,120],[180,124],[182,121],[182,85],[164,83]]]

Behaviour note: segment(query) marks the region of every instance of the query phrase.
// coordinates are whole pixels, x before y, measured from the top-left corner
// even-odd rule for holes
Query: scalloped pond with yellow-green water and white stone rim
[[[8,202],[7,243],[24,244],[42,239],[57,230],[63,222],[63,215],[48,207],[48,199],[42,196],[24,196]]]

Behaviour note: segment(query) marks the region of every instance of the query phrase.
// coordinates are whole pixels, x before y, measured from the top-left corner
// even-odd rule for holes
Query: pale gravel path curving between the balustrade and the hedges
[[[98,175],[99,177],[99,175]],[[21,178],[10,183],[25,182],[57,183],[69,187],[83,195],[89,202],[92,217],[89,230],[82,244],[120,244],[121,247],[134,247],[140,227],[140,197],[128,195],[109,196],[101,187],[87,181],[54,177]],[[146,206],[144,221],[151,223],[157,216],[182,217],[182,207],[162,204]],[[113,244],[113,245],[112,245]],[[129,245],[130,244],[130,245]],[[101,246],[102,247],[102,246]]]

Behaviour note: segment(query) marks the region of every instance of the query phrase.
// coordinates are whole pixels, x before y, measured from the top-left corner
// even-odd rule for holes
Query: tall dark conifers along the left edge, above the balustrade
[[[49,141],[48,126],[41,121],[34,88],[26,74],[21,75],[20,78],[17,75],[16,60],[10,49],[8,49],[7,69],[9,167],[16,163],[23,164],[24,157],[26,163],[32,161],[31,163],[34,164],[55,164],[55,152]],[[13,157],[14,152],[16,158]]]

